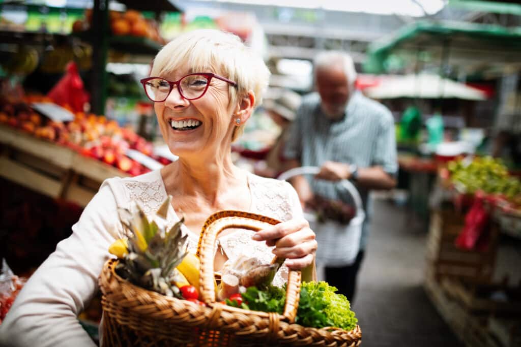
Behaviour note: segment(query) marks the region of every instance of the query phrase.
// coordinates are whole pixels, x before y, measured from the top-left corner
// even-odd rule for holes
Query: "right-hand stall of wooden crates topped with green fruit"
[[[515,345],[518,323],[511,318],[521,312],[521,288],[508,277],[493,278],[501,232],[521,237],[520,197],[519,179],[490,157],[459,159],[439,171],[425,289],[468,345],[497,346],[492,335],[506,346]],[[517,223],[505,224],[505,217]],[[498,322],[511,327],[501,329]]]

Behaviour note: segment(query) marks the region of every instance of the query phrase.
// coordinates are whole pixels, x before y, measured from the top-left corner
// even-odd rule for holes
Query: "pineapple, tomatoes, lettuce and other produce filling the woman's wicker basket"
[[[171,197],[149,221],[137,204],[132,211],[119,210],[119,218],[127,238],[116,240],[109,252],[120,260],[119,276],[134,285],[158,293],[206,305],[200,301],[200,263],[187,251],[188,235],[182,235],[179,221],[166,226]],[[286,288],[271,285],[281,262],[262,264],[255,258],[239,256],[223,266],[216,297],[223,304],[246,310],[282,314]],[[344,295],[326,282],[303,282],[296,323],[315,328],[338,327],[352,330],[357,319]]]

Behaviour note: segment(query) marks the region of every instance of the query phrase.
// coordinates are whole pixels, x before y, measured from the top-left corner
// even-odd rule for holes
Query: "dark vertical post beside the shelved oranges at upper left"
[[[92,80],[91,110],[96,114],[105,114],[107,98],[107,50],[108,50],[108,0],[94,0],[92,9]]]

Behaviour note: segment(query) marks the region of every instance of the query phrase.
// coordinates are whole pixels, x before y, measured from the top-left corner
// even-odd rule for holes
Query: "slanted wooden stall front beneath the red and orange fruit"
[[[84,207],[101,183],[128,174],[76,151],[0,125],[0,176]]]

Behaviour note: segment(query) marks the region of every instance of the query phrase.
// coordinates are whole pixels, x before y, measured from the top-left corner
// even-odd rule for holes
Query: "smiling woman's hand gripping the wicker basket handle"
[[[269,247],[275,246],[273,253],[279,258],[286,258],[286,265],[294,270],[311,265],[315,259],[315,233],[303,218],[271,226],[255,233],[252,238],[266,241]]]

